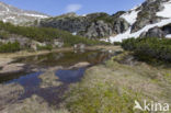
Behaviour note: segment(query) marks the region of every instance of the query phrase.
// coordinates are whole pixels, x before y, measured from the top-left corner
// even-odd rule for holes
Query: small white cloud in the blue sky
[[[77,12],[82,8],[81,4],[68,4],[66,8],[66,12]]]

